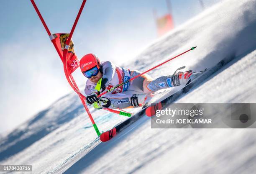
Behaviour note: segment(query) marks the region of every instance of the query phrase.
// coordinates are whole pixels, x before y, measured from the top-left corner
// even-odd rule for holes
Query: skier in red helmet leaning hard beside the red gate
[[[143,74],[131,82],[108,92],[104,97],[97,97],[100,92],[110,90],[112,87],[141,74],[141,72],[118,67],[110,61],[100,62],[94,54],[86,54],[82,57],[80,69],[84,76],[89,79],[84,89],[87,95],[87,105],[93,104],[96,109],[102,107],[113,109],[116,107],[142,107],[151,99],[152,93],[161,89],[187,84],[193,74],[191,70],[178,73],[175,71],[173,75],[162,76],[157,79],[153,79],[148,74]],[[101,78],[101,89],[100,91],[95,90],[96,84]]]

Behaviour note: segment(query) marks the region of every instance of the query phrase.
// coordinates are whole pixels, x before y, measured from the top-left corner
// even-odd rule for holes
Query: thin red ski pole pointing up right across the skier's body
[[[141,74],[138,74],[137,76],[135,76],[135,77],[133,77],[133,78],[127,80],[126,82],[123,82],[123,83],[121,83],[121,84],[118,84],[118,85],[116,85],[115,87],[111,88],[111,89],[108,90],[108,91],[102,92],[100,95],[98,95],[98,97],[100,97],[100,96],[102,96],[102,95],[105,95],[106,93],[108,93],[108,92],[110,92],[110,91],[115,90],[117,87],[120,87],[120,86],[122,86],[123,84],[128,83],[128,82],[130,82],[130,81],[136,79],[137,77],[140,77],[140,76],[142,76],[143,74],[146,74],[147,72],[149,72],[149,71],[151,71],[151,70],[153,70],[153,69],[156,69],[157,67],[160,67],[161,65],[167,63],[168,61],[171,61],[171,60],[173,60],[173,59],[175,59],[175,58],[181,56],[182,54],[185,54],[185,53],[187,53],[187,52],[189,52],[189,51],[191,51],[191,50],[194,50],[195,48],[197,48],[197,47],[196,47],[196,46],[195,46],[195,47],[193,46],[191,49],[189,49],[189,50],[187,50],[187,51],[184,51],[183,53],[181,53],[181,54],[179,54],[179,55],[177,55],[177,56],[175,56],[175,57],[172,57],[171,59],[168,59],[168,60],[164,61],[163,63],[158,64],[158,65],[156,65],[155,67],[153,67],[153,68],[151,68],[151,69],[148,69],[148,70],[145,71],[145,72],[142,72]]]

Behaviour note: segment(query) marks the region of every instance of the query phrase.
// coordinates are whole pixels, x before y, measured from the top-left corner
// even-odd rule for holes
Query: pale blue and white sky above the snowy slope
[[[219,0],[204,0],[210,7]],[[51,33],[69,33],[82,0],[35,0]],[[174,26],[202,12],[198,0],[172,0]],[[94,53],[122,64],[157,38],[152,10],[167,13],[165,0],[87,0],[73,35],[77,56]],[[61,60],[29,0],[0,6],[0,133],[11,130],[59,97],[72,92]],[[74,78],[84,84],[77,70]]]

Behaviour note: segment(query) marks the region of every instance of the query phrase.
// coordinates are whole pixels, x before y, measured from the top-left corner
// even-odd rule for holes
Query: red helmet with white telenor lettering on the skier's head
[[[94,54],[86,54],[80,60],[81,72],[85,72],[93,67],[100,69],[100,60]]]

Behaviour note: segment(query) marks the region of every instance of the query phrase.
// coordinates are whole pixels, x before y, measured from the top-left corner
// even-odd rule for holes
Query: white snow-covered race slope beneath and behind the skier
[[[172,74],[183,65],[197,71],[232,56],[232,62],[177,102],[255,103],[255,9],[255,0],[223,1],[155,41],[125,67],[143,71],[198,46],[149,74]],[[93,116],[101,131],[126,119],[103,110]],[[255,133],[254,129],[151,129],[145,116],[113,140],[100,143],[72,93],[2,137],[0,162],[32,165],[33,173],[67,169],[67,173],[253,173]]]

